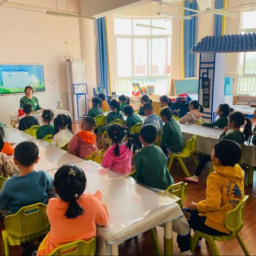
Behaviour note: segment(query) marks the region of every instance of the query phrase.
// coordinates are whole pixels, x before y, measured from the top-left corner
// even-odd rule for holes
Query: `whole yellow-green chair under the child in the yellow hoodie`
[[[245,255],[250,255],[249,251],[247,250],[241,236],[239,235],[239,231],[243,228],[243,219],[244,219],[244,206],[246,200],[249,196],[244,196],[244,198],[236,205],[233,210],[227,212],[225,217],[225,226],[227,229],[231,231],[230,234],[223,235],[223,236],[213,236],[208,235],[200,231],[195,231],[193,238],[191,239],[190,249],[192,252],[195,251],[196,243],[199,237],[205,238],[207,243],[210,246],[212,251],[212,255],[220,255],[220,252],[215,244],[215,240],[219,242],[229,241],[232,238],[236,237],[238,243],[243,249]]]

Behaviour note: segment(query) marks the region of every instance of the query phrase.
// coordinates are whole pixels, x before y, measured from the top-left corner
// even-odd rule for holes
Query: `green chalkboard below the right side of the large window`
[[[176,94],[180,93],[198,93],[198,79],[174,79]]]

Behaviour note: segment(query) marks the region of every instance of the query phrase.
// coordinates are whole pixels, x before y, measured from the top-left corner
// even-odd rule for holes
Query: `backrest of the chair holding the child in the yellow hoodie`
[[[227,212],[225,217],[225,226],[230,231],[239,232],[243,227],[244,221],[244,206],[249,196],[244,196],[243,199],[235,206],[234,209]]]

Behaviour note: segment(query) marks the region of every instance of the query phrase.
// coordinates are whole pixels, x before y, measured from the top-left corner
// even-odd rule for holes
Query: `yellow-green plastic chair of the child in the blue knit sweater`
[[[22,207],[17,213],[5,217],[5,230],[2,231],[3,255],[10,255],[9,244],[29,243],[49,232],[50,223],[45,211],[46,205],[37,203]]]

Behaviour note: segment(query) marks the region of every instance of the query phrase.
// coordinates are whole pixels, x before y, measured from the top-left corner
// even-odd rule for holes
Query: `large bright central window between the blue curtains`
[[[155,93],[167,92],[171,75],[171,21],[115,18],[114,26],[117,92],[131,94],[132,83],[154,85]]]

